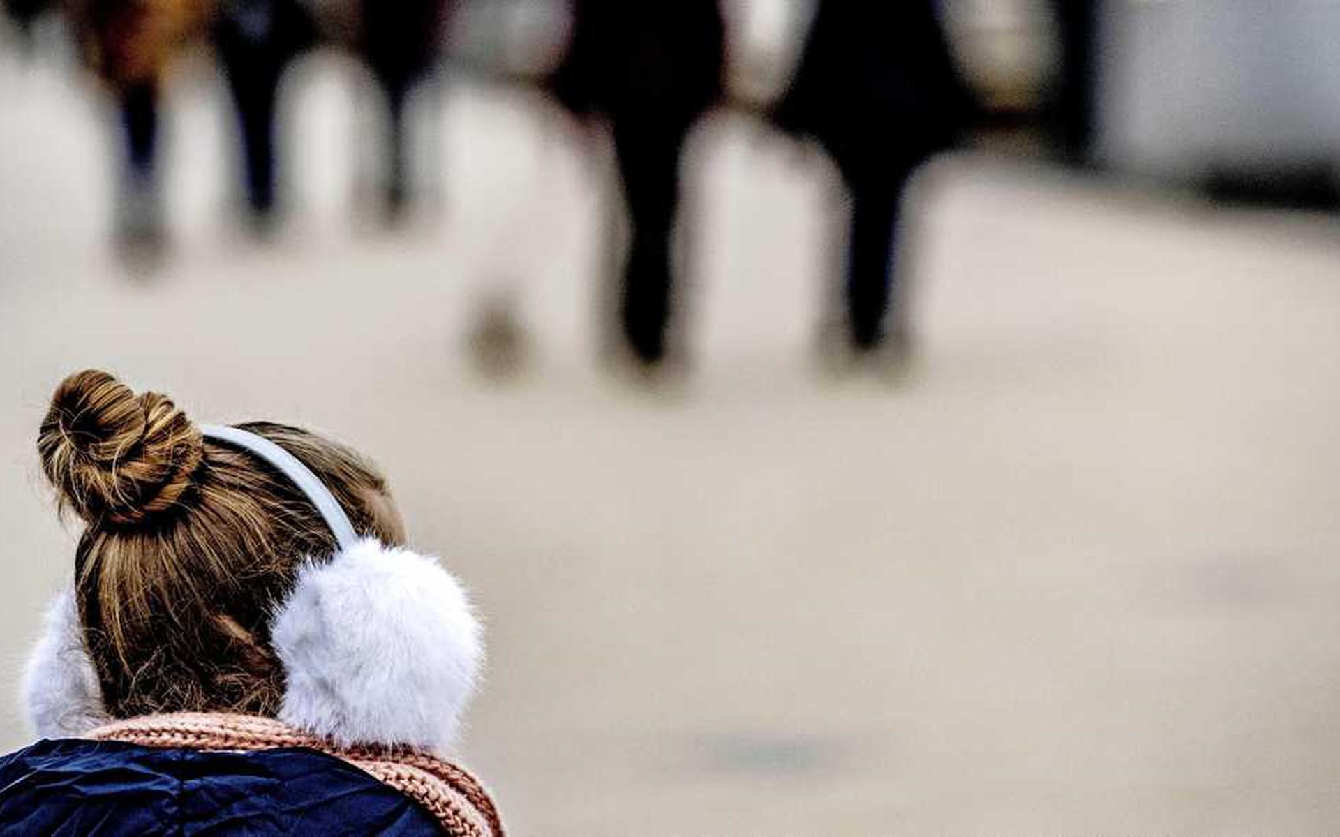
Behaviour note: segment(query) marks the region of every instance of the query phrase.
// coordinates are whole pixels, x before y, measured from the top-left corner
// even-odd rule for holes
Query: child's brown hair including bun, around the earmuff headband
[[[356,452],[281,424],[237,427],[311,468],[359,534],[403,542],[386,482]],[[169,397],[99,370],[56,388],[38,453],[59,508],[86,524],[75,592],[107,711],[277,712],[271,614],[300,562],[336,547],[312,503],[253,455],[202,439]]]

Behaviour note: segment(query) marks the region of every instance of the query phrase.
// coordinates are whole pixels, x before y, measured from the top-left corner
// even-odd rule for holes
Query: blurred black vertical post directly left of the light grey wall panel
[[[1060,78],[1052,130],[1065,158],[1087,164],[1093,152],[1097,85],[1097,0],[1057,0]]]

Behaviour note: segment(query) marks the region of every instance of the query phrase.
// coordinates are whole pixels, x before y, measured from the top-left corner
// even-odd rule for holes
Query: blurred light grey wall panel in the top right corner
[[[1106,154],[1151,173],[1340,158],[1340,4],[1112,0]]]

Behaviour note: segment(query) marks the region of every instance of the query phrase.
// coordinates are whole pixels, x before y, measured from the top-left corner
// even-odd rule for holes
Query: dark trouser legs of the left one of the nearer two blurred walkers
[[[638,114],[615,118],[612,127],[631,227],[620,317],[630,347],[655,364],[665,354],[670,319],[671,240],[689,125]]]

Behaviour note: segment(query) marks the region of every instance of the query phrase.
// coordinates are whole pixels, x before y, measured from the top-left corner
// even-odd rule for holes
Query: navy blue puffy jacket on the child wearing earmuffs
[[[441,834],[437,820],[314,750],[201,752],[40,740],[0,758],[0,834]]]

